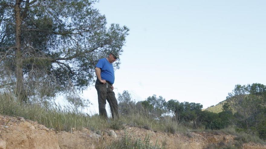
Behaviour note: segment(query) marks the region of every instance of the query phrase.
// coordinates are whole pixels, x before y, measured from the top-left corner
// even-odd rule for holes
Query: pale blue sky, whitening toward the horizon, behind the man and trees
[[[130,31],[115,70],[115,94],[143,101],[195,102],[207,108],[235,85],[266,85],[266,1],[100,0],[108,26]],[[98,113],[94,86],[83,91]],[[106,105],[108,107],[109,105]]]

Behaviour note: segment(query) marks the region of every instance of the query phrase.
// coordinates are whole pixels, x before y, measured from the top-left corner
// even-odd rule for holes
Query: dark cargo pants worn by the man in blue
[[[107,85],[106,85],[107,84]],[[108,101],[112,113],[112,118],[119,118],[118,104],[115,98],[115,92],[111,89],[111,84],[106,81],[106,84],[99,82],[97,79],[95,82],[95,88],[98,94],[99,114],[107,119],[107,113],[105,110],[106,100]]]

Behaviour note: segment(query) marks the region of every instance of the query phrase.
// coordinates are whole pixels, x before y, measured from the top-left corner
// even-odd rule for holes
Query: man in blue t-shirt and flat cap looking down
[[[95,66],[95,73],[97,76],[95,88],[98,93],[99,114],[105,119],[108,118],[105,110],[106,100],[110,105],[112,118],[119,118],[118,104],[115,98],[115,93],[113,92],[115,74],[114,67],[112,65],[112,63],[118,58],[118,53],[113,51],[109,53],[108,57],[100,59]]]

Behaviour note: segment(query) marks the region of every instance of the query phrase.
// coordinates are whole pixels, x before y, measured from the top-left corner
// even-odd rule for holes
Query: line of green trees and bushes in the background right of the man
[[[235,85],[219,113],[203,110],[199,103],[166,101],[156,95],[136,103],[128,91],[118,93],[118,101],[119,112],[125,116],[136,112],[155,120],[170,116],[176,123],[193,129],[224,129],[233,125],[237,131],[266,139],[266,86],[260,83]]]

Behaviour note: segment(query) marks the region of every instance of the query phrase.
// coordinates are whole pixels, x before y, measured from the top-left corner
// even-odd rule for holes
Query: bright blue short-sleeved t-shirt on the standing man
[[[95,67],[101,69],[102,79],[110,82],[111,84],[114,84],[115,82],[114,67],[106,58],[100,59]]]

